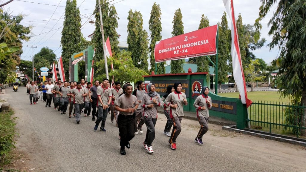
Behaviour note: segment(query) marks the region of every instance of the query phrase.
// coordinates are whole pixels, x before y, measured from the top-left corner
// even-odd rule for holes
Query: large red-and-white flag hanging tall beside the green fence
[[[223,0],[227,14],[232,22],[232,61],[233,61],[233,75],[237,84],[238,91],[241,96],[241,102],[249,107],[252,101],[248,99],[247,90],[245,86],[244,73],[242,68],[242,61],[239,49],[238,33],[235,20],[233,0]]]

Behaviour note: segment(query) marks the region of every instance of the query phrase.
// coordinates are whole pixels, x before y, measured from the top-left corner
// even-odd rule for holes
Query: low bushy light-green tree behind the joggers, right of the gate
[[[114,64],[114,71],[110,71],[110,76],[114,76],[114,80],[124,84],[126,81],[136,83],[138,80],[143,80],[143,75],[148,75],[147,71],[143,69],[136,68],[133,64],[132,53],[129,51],[123,50],[118,53],[116,58],[111,57],[107,63],[110,67],[111,63]],[[106,77],[105,74],[102,74],[105,71],[104,62],[97,62],[99,75],[95,79],[102,80]]]

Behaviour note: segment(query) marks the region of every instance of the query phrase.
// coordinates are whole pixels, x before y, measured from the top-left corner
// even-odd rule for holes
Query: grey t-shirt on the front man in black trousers
[[[127,108],[135,108],[137,105],[137,98],[135,95],[130,95],[130,97],[127,97],[125,94],[121,95],[118,100],[116,105],[119,106],[122,109],[127,109]],[[122,115],[132,115],[132,112],[120,112]]]

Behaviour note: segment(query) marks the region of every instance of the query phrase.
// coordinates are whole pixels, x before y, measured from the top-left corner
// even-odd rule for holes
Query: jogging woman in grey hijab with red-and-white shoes
[[[155,124],[157,121],[157,107],[163,107],[164,102],[159,94],[155,92],[155,84],[150,83],[147,86],[148,93],[142,97],[140,106],[144,108],[144,123],[147,126],[146,139],[144,140],[144,149],[148,153],[154,153],[152,142],[155,139]]]

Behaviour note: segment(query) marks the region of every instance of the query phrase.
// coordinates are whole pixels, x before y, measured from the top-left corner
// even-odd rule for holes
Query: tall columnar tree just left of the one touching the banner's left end
[[[132,60],[135,67],[148,70],[148,52],[149,40],[146,30],[143,30],[142,15],[139,11],[129,11],[128,16],[128,37],[127,43],[129,45],[128,51],[132,53]]]

